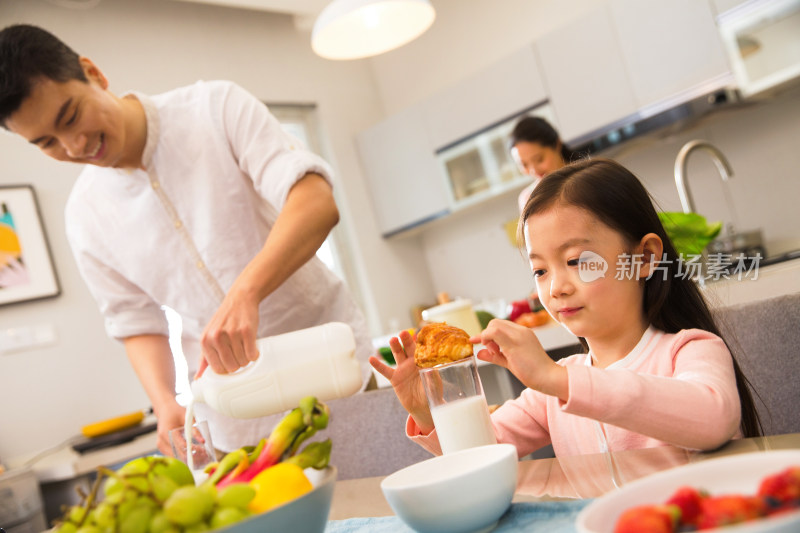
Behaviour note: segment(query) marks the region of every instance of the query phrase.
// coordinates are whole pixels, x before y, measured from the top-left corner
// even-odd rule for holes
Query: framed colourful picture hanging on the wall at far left
[[[30,185],[0,185],[0,305],[61,294]]]

